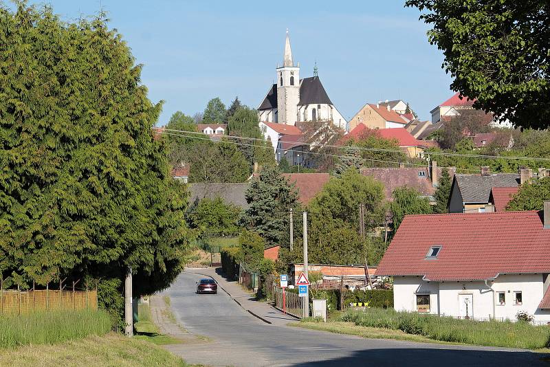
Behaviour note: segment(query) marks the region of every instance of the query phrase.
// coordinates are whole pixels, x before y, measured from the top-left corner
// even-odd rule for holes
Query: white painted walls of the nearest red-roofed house
[[[426,282],[421,276],[396,276],[393,294],[397,311],[417,311],[416,295],[430,294],[430,313],[459,317],[459,295],[471,294],[474,318],[503,318],[516,320],[518,311],[527,311],[538,322],[550,321],[550,311],[538,310],[544,296],[542,274],[513,274],[498,276],[487,282]],[[498,304],[498,291],[505,292],[505,304]],[[514,291],[522,292],[522,304],[514,304]]]

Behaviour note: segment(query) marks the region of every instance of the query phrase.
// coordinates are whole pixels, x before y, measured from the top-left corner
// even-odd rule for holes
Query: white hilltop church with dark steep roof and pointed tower
[[[296,125],[296,122],[332,121],[346,129],[347,121],[334,107],[317,75],[300,79],[300,63],[294,65],[287,31],[283,66],[276,68],[277,83],[272,85],[258,107],[261,122]]]

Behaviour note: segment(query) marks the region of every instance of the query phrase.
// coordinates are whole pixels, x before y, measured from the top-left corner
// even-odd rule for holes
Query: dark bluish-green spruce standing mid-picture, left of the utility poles
[[[246,201],[250,206],[243,224],[262,236],[267,245],[280,245],[288,232],[289,210],[296,208],[298,201],[294,185],[281,176],[277,166],[265,166],[252,179]]]

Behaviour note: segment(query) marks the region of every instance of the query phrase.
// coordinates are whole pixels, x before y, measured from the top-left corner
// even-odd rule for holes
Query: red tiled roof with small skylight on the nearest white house
[[[437,245],[437,258],[426,259]],[[550,229],[531,210],[405,216],[376,275],[444,281],[549,272]]]

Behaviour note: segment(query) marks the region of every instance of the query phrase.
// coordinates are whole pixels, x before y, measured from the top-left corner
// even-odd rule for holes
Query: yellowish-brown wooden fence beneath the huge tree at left
[[[0,313],[18,314],[34,311],[98,309],[98,292],[60,291],[0,291]]]

